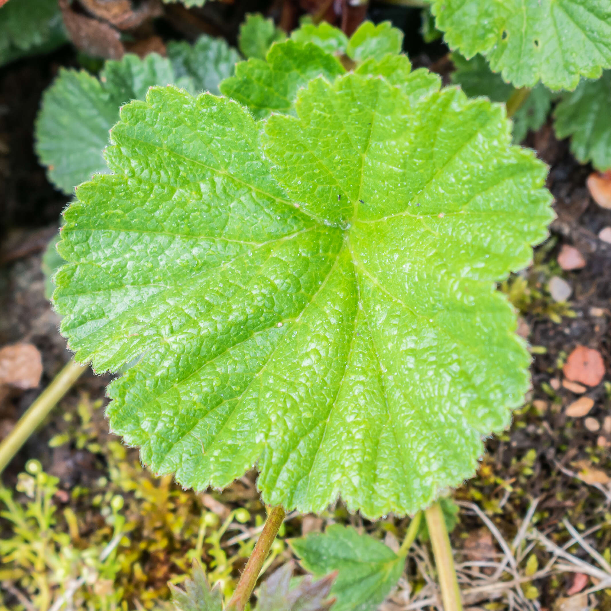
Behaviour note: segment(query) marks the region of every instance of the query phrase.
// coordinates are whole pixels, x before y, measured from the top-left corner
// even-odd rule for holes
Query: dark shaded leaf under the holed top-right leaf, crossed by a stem
[[[490,70],[488,62],[481,55],[465,59],[459,53],[452,53],[452,62],[456,67],[452,82],[459,84],[470,97],[485,95],[495,102],[507,102],[516,92],[499,73]],[[554,93],[541,83],[535,86],[512,117],[514,142],[521,142],[529,130],[536,131],[546,122],[554,97]]]

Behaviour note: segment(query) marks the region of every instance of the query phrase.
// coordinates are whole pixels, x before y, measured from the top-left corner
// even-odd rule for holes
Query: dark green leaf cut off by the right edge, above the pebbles
[[[554,111],[558,138],[571,136],[571,152],[597,170],[611,169],[611,70],[598,81],[582,81],[566,93]]]

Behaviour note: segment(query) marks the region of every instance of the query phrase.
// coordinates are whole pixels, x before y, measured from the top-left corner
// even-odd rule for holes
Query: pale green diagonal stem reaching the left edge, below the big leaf
[[[74,359],[70,359],[70,362],[55,376],[37,400],[27,408],[15,428],[0,443],[0,474],[27,441],[27,438],[34,433],[35,428],[56,406],[57,401],[64,397],[86,369],[87,365],[80,365]]]

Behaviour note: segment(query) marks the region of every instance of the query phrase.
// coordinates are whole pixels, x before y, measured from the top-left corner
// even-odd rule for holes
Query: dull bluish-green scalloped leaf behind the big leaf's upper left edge
[[[122,104],[169,83],[218,93],[239,59],[224,40],[206,35],[193,46],[170,42],[167,52],[169,59],[151,53],[143,60],[132,54],[108,60],[99,80],[84,70],[60,70],[43,95],[35,128],[36,152],[57,188],[70,194],[93,174],[108,172],[103,150]]]

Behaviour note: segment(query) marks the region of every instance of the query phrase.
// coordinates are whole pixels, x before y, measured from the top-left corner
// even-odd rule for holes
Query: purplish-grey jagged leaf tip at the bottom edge
[[[327,575],[315,582],[306,575],[291,588],[294,568],[293,562],[287,562],[263,582],[255,611],[327,611],[331,608],[333,601],[326,599],[335,575]]]

